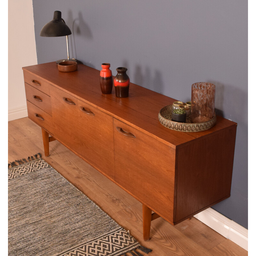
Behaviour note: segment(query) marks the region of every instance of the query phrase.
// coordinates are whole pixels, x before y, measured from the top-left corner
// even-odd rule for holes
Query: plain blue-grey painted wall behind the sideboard
[[[181,101],[193,83],[216,85],[217,114],[238,125],[231,197],[213,208],[247,228],[247,1],[33,0],[33,9],[38,64],[67,58],[65,37],[39,36],[58,10],[70,57],[85,65],[109,62],[113,75],[125,66],[132,83]]]

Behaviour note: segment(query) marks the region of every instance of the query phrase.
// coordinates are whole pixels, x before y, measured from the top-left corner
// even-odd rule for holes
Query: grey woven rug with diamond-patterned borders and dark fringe
[[[8,164],[9,256],[143,256],[151,252],[47,164]]]

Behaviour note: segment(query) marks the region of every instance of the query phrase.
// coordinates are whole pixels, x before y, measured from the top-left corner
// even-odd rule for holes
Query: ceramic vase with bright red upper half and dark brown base
[[[100,90],[104,94],[109,94],[112,92],[113,88],[113,77],[112,71],[109,69],[109,63],[101,64],[102,70],[100,71]]]

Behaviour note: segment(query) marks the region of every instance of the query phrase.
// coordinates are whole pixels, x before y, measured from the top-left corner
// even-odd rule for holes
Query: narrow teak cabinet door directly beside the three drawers
[[[54,136],[69,149],[80,154],[77,99],[51,86]]]

